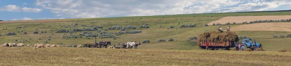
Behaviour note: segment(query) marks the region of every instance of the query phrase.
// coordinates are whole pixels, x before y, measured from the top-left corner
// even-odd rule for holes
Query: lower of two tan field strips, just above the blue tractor
[[[289,31],[291,23],[258,23],[240,25],[230,29],[231,31]]]

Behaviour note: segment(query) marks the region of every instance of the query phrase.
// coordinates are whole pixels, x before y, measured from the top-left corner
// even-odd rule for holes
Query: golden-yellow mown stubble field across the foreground
[[[0,66],[291,66],[291,52],[0,47]]]

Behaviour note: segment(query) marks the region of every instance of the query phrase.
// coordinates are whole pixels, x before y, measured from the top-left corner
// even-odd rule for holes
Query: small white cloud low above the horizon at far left
[[[28,7],[20,8],[19,6],[16,5],[6,5],[4,7],[0,7],[0,11],[38,13],[41,12],[42,10],[38,8],[28,8]]]

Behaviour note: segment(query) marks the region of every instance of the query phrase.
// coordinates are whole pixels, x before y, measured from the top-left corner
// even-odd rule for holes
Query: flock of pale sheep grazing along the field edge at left
[[[23,43],[18,43],[18,44],[16,44],[16,43],[4,43],[4,44],[0,45],[0,47],[24,47],[24,44]],[[32,47],[32,45],[27,44],[27,47]],[[46,44],[45,45],[45,44],[36,43],[36,44],[34,44],[34,47],[35,48],[44,48],[44,47],[49,48],[49,47],[60,47],[60,45],[56,45],[56,44]],[[81,48],[82,45],[78,45],[77,47]]]

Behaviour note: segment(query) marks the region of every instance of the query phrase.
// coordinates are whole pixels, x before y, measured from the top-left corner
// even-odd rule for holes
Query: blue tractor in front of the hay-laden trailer
[[[246,48],[250,48],[253,51],[257,51],[258,48],[262,48],[260,43],[256,43],[256,40],[252,39],[243,39],[241,44],[241,50],[245,50]]]

